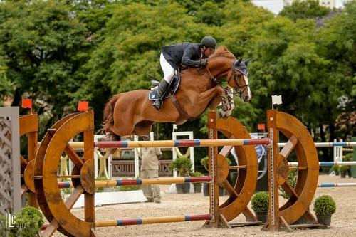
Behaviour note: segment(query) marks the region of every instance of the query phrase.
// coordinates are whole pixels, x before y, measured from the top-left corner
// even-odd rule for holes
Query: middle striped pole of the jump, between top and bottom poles
[[[156,179],[111,179],[95,181],[95,188],[111,186],[129,186],[141,184],[183,184],[183,183],[200,183],[211,181],[210,176],[201,177],[176,177],[176,178],[156,178]],[[58,188],[73,188],[72,182],[58,182]]]

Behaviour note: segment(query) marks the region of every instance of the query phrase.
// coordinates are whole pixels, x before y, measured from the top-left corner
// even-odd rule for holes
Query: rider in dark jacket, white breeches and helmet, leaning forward
[[[211,36],[205,36],[200,43],[179,43],[173,46],[163,46],[159,63],[164,73],[163,80],[159,83],[157,100],[153,107],[160,110],[164,94],[169,88],[174,76],[174,70],[180,68],[181,64],[187,67],[206,67],[207,60],[216,48],[216,40]]]

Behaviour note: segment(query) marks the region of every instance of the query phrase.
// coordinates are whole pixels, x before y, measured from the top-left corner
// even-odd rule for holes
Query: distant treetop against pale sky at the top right
[[[293,1],[290,6],[284,6],[279,13],[293,21],[298,19],[317,19],[328,15],[330,9],[327,6],[321,6],[318,0]]]

